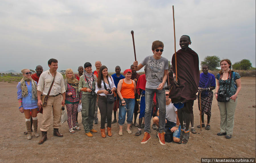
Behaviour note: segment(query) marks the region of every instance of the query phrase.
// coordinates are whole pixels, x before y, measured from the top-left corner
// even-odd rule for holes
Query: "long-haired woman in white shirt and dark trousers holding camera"
[[[98,106],[101,113],[101,137],[106,138],[105,121],[107,116],[108,136],[111,137],[111,122],[114,101],[108,101],[109,96],[113,97],[113,91],[116,89],[112,76],[108,75],[108,68],[101,66],[96,82],[95,92],[99,95]]]

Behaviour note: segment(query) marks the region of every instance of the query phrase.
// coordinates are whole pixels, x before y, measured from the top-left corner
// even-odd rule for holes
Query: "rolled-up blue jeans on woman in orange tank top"
[[[124,99],[125,101],[125,107],[127,110],[125,110],[123,105],[119,106],[119,113],[118,113],[118,124],[120,126],[122,126],[124,124],[125,121],[125,115],[127,112],[127,124],[131,124],[132,123],[132,119],[133,119],[133,112],[134,112],[134,107],[135,107],[135,100],[134,99]],[[119,100],[119,103],[122,103],[121,99]]]

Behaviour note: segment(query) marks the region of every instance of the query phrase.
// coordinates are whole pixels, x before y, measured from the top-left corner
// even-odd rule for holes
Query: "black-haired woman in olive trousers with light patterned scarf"
[[[96,104],[95,82],[97,77],[91,73],[92,65],[89,62],[84,64],[84,73],[80,76],[78,91],[82,92],[82,123],[85,134],[93,137],[92,133],[97,133],[93,129],[94,112]]]

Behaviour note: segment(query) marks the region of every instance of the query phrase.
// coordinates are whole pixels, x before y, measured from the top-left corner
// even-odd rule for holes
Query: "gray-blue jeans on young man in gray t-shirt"
[[[152,102],[154,94],[157,96],[157,103],[159,106],[159,132],[162,133],[165,129],[165,89],[157,90],[146,88],[145,93],[145,128],[144,131],[150,133],[150,122],[151,122],[151,112],[152,112]]]

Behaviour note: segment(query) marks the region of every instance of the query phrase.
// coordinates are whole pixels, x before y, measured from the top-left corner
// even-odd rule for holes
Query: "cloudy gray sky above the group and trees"
[[[245,1],[0,1],[0,71],[35,69],[56,58],[58,70],[77,68],[100,60],[114,72],[134,61],[134,30],[139,62],[152,42],[163,41],[163,57],[174,53],[181,35],[199,56],[216,55],[232,63],[249,59],[255,67],[255,0]]]

